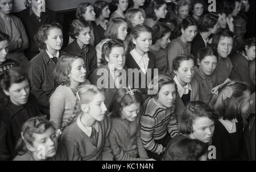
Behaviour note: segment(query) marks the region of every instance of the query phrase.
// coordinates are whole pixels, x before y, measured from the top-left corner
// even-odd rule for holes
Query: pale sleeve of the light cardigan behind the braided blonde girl
[[[63,112],[65,108],[64,90],[56,89],[49,99],[50,103],[50,121],[55,124],[56,129],[61,127]]]

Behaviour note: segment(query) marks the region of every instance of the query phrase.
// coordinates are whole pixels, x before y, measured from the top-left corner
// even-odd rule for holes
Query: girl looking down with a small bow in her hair
[[[121,88],[110,103],[112,129],[110,145],[117,161],[147,160],[147,152],[141,142],[139,121],[141,119],[142,94],[138,89]]]

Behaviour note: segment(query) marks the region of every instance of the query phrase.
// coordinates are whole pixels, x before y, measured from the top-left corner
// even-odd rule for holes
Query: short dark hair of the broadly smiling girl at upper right
[[[225,38],[225,37],[233,39],[233,47],[234,47],[234,44],[235,44],[234,33],[231,32],[231,31],[228,31],[228,30],[224,30],[224,31],[218,32],[218,33],[213,35],[213,40],[212,40],[213,50],[215,50],[215,51],[218,50],[218,42],[220,42],[220,40]]]

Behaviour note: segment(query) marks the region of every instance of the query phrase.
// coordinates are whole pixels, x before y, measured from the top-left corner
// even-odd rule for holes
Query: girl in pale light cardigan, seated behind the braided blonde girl
[[[54,70],[55,80],[60,84],[49,98],[50,121],[59,129],[68,122],[76,105],[76,92],[81,84],[90,84],[86,79],[84,58],[76,54],[60,57]]]

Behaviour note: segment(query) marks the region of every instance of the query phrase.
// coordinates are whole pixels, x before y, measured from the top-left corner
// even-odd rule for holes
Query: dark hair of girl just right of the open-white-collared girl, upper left
[[[76,37],[79,36],[79,33],[82,31],[82,29],[87,27],[90,28],[88,21],[81,19],[73,20],[69,28],[68,35],[75,40]]]

